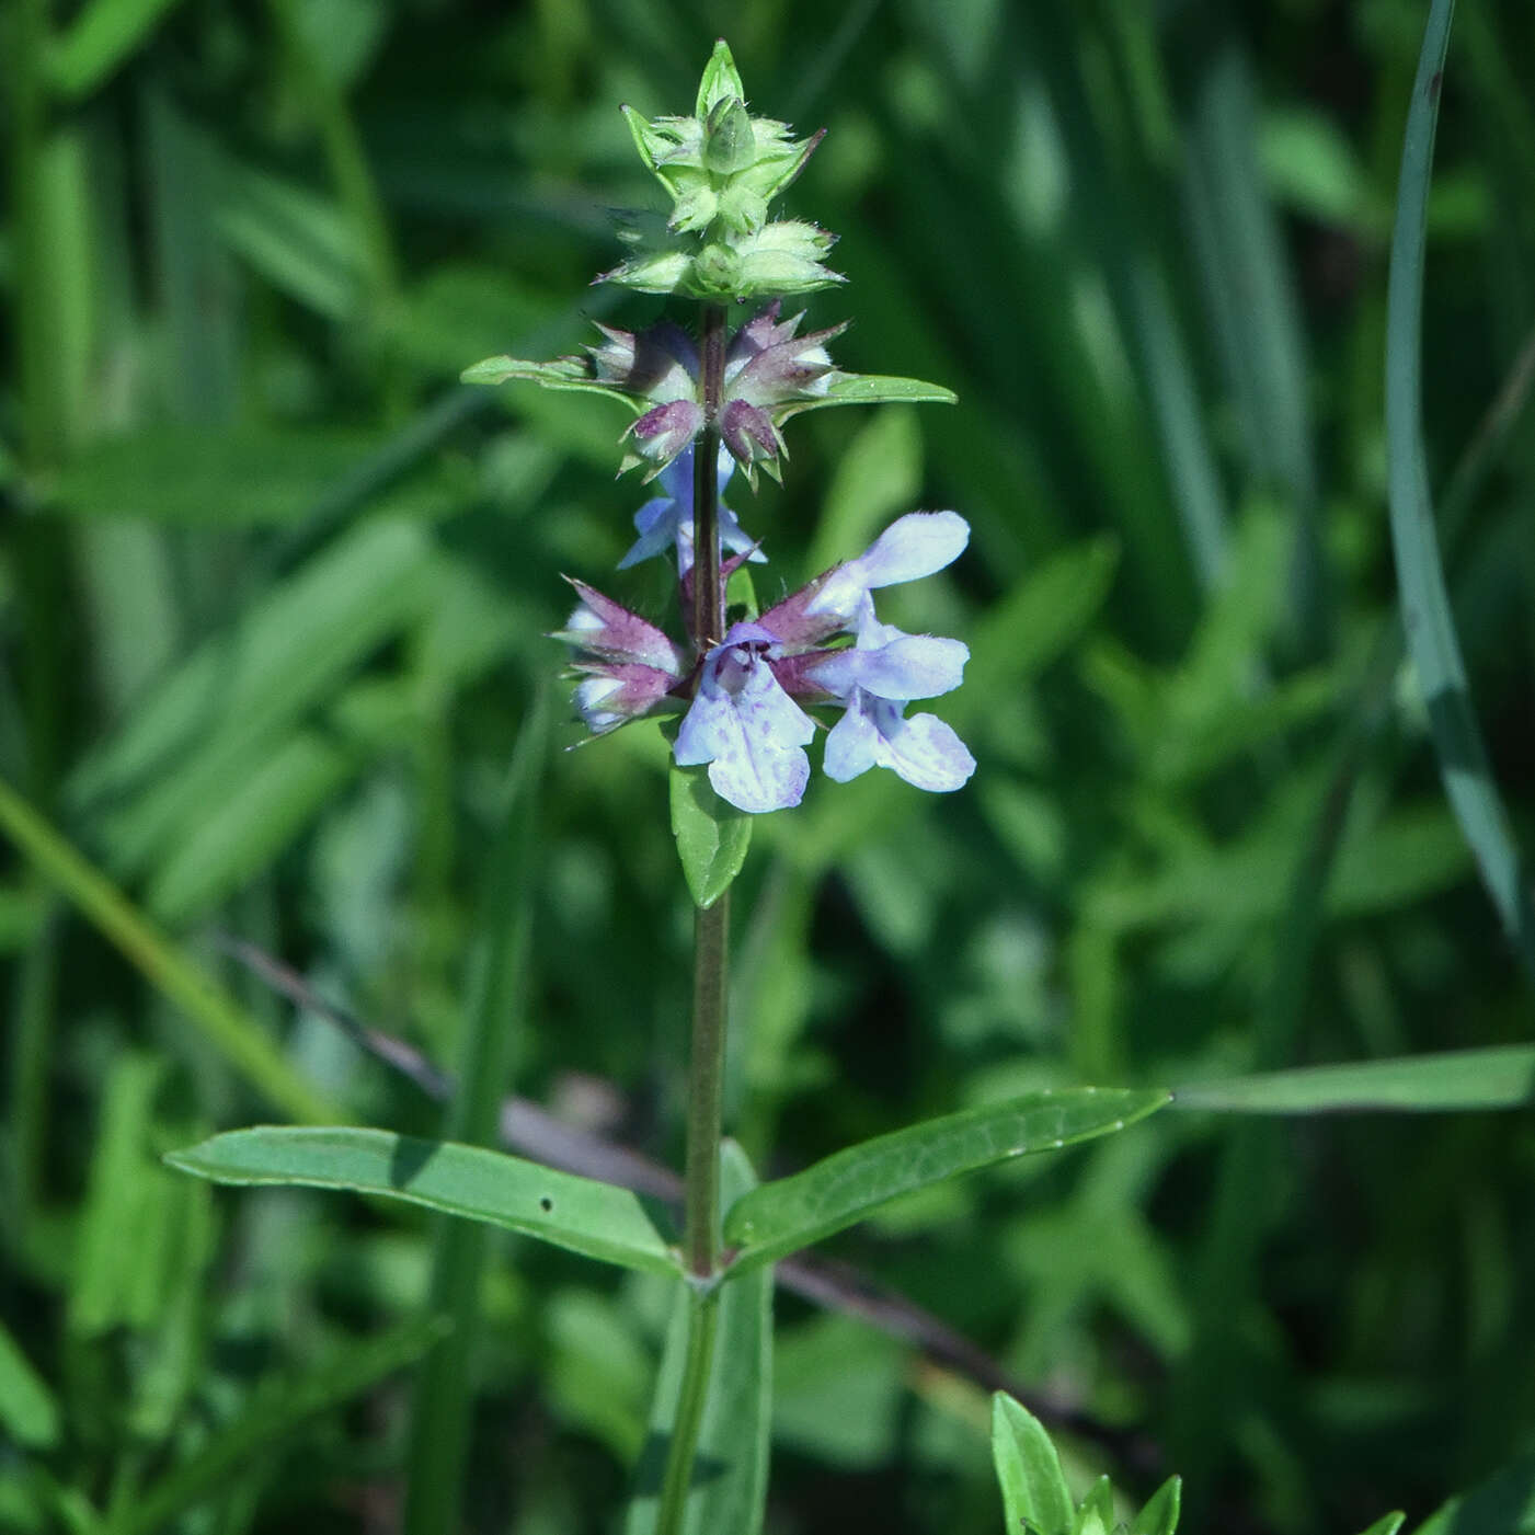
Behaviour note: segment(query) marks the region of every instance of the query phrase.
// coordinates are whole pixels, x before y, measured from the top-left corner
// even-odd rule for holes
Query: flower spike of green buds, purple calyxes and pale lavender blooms
[[[645,465],[646,480],[660,477],[663,494],[635,514],[639,539],[619,568],[675,556],[683,639],[573,582],[580,602],[559,637],[574,649],[576,708],[594,735],[682,711],[677,766],[706,766],[714,792],[751,814],[800,803],[810,772],[804,748],[817,715],[832,711],[840,718],[826,738],[827,777],[846,783],[881,766],[919,789],[958,789],[975,771],[969,749],[932,714],[906,718],[906,705],[959,686],[969,651],[881,623],[872,593],[952,563],[969,540],[966,520],[953,511],[901,517],[863,554],[758,614],[731,608],[729,580],[766,554],[721,502],[737,467],[752,488],[758,468],[781,477],[791,416],[952,396],[913,379],[844,373],[827,352],[843,325],[800,335],[801,315],[780,318],[783,295],[841,281],[820,262],[829,235],[768,220],[769,201],[800,173],[820,135],[795,141],[783,123],[751,117],[723,41],[692,117],[646,123],[628,109],[626,117],[672,213],[645,253],[600,281],[703,298],[698,336],[671,321],[639,333],[603,325],[585,356],[490,358],[464,375],[625,401],[635,419],[620,470]],[[723,309],[708,302],[761,298],[768,302],[729,336]]]

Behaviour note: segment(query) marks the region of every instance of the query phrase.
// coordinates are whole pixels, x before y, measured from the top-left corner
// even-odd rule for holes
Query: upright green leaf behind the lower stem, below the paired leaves
[[[738,1199],[757,1183],[746,1154],[734,1141],[721,1148],[721,1194]],[[698,1429],[694,1480],[683,1514],[683,1535],[757,1535],[768,1497],[768,1437],[772,1406],[772,1269],[763,1266],[740,1285],[726,1285],[712,1302],[720,1308],[714,1368]],[[635,1494],[625,1535],[652,1535],[660,1514],[671,1426],[677,1417],[688,1352],[692,1296],[677,1286],[666,1352],[655,1382],[651,1432],[635,1471]]]

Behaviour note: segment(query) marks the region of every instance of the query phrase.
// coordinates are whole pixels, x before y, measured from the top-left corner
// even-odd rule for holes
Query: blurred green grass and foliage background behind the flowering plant
[[[758,1171],[1044,1087],[1529,1039],[1394,637],[1385,267],[1424,9],[9,0],[0,775],[111,886],[84,900],[69,846],[0,872],[0,1529],[394,1527],[434,1432],[470,1527],[620,1526],[662,1280],[493,1239],[411,1435],[431,1220],[160,1156],[327,1102],[441,1130],[233,933],[677,1164],[657,728],[554,751],[536,849],[502,827],[559,574],[611,585],[643,499],[625,416],[456,378],[655,313],[585,287],[606,210],[654,195],[617,104],[685,109],[720,32],[758,111],[829,129],[789,207],[843,236],[810,302],[855,319],[838,362],[961,396],[791,428],[748,517],[768,579],[918,505],[975,528],[887,614],[970,643],[941,712],[975,781],[820,781],[737,886]],[[1423,313],[1454,617],[1526,843],[1532,58],[1527,5],[1464,0]],[[619,594],[655,612],[663,579]],[[520,990],[470,1005],[523,886]],[[1078,1497],[1177,1471],[1187,1530],[1415,1526],[1535,1449],[1532,1179],[1527,1108],[1162,1114],[832,1251],[1053,1411]],[[996,1527],[982,1371],[775,1312],[769,1529]]]

